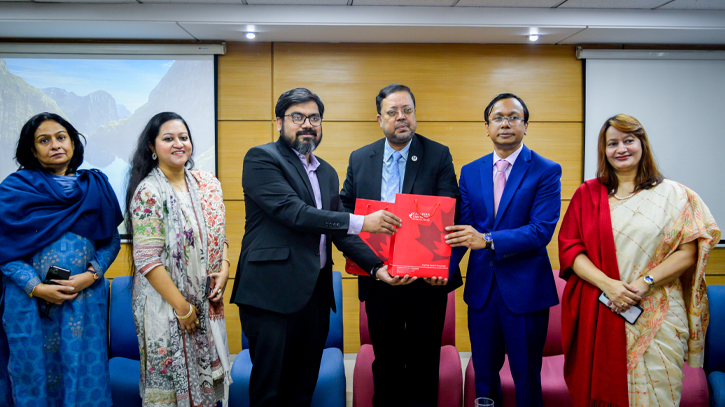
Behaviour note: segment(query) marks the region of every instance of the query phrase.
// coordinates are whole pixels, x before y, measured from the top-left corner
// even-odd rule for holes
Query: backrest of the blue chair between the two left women
[[[131,294],[133,277],[122,276],[113,279],[109,301],[109,350],[111,357],[139,360],[138,336],[133,321]]]

